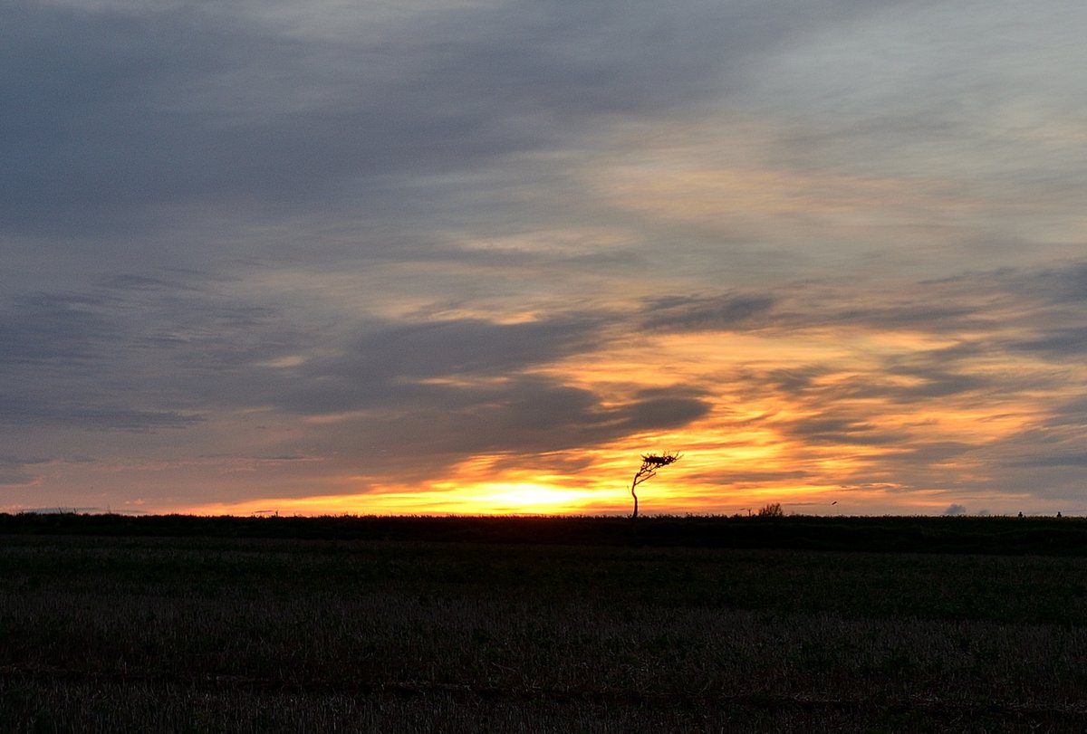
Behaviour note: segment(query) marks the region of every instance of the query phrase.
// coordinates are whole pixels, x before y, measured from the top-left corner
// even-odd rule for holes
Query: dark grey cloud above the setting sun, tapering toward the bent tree
[[[591,322],[563,320],[393,326],[355,342],[351,358],[314,366],[301,377],[307,384],[277,404],[311,415],[364,412],[340,451],[380,445],[367,471],[400,479],[433,476],[473,454],[596,445],[707,415],[710,403],[686,387],[639,391],[605,407],[589,390],[523,375],[587,349],[594,333]],[[338,423],[336,431],[342,431]]]

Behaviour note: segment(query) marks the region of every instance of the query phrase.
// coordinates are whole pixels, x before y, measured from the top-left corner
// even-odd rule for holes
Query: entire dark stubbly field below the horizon
[[[1082,732],[1087,522],[0,516],[4,732]]]

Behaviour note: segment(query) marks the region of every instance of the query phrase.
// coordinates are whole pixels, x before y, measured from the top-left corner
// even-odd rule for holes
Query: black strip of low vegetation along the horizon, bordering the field
[[[0,514],[0,534],[1087,556],[1087,520],[1051,517]]]

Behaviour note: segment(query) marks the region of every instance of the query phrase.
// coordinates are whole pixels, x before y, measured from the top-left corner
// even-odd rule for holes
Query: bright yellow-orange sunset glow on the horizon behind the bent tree
[[[728,349],[721,342],[727,340]],[[702,418],[672,431],[639,433],[599,446],[544,455],[468,456],[440,480],[414,485],[374,485],[366,478],[341,477],[332,493],[264,497],[186,506],[196,515],[627,515],[629,482],[642,453],[677,451],[683,459],[639,486],[639,509],[647,515],[736,515],[779,503],[797,514],[939,514],[973,497],[991,512],[1014,514],[1027,495],[986,497],[955,483],[978,478],[984,466],[962,455],[928,467],[905,485],[885,465],[908,457],[919,442],[960,441],[984,450],[1026,430],[1038,407],[1022,395],[977,405],[973,397],[949,397],[920,409],[871,397],[850,397],[853,380],[885,380],[909,390],[920,378],[880,375],[878,357],[944,346],[914,332],[874,333],[844,329],[789,334],[736,336],[699,332],[650,340],[651,344],[610,345],[537,371],[565,384],[591,390],[602,405],[622,405],[639,390],[684,384],[719,384]],[[651,347],[651,349],[650,349]],[[798,426],[820,421],[826,405],[802,393],[752,391],[745,370],[788,370],[817,358],[835,369],[813,378],[813,389],[841,391],[835,409],[850,420],[899,433],[900,442],[842,445],[807,438]],[[990,369],[1005,368],[988,365]],[[863,435],[863,431],[862,431]],[[576,469],[563,469],[576,467]],[[353,488],[355,489],[352,489]],[[1038,503],[1035,503],[1038,505]]]

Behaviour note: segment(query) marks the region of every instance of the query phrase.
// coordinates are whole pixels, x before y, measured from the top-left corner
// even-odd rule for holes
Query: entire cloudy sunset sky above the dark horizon
[[[0,511],[1087,514],[1085,37],[0,0]]]

